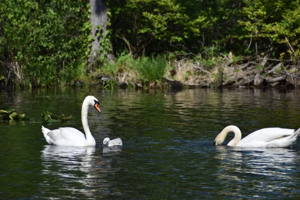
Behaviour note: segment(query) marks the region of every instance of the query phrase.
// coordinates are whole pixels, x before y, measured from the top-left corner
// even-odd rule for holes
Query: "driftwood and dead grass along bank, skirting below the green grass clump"
[[[255,61],[253,61],[255,60]],[[102,85],[117,82],[118,87],[126,87],[128,82],[137,88],[169,87],[181,90],[186,87],[298,87],[300,86],[299,63],[290,60],[279,61],[263,56],[259,59],[232,61],[229,58],[217,60],[207,66],[192,60],[179,60],[170,63],[171,69],[166,70],[161,81],[140,82],[126,76],[130,72],[122,72],[116,77],[103,74],[95,76]],[[130,79],[129,79],[130,78]]]

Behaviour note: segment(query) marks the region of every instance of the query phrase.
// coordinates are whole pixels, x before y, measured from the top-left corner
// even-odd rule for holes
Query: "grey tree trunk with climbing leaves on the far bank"
[[[87,71],[92,71],[94,69],[94,63],[96,61],[96,56],[106,56],[108,61],[113,61],[114,56],[112,52],[103,55],[102,52],[99,52],[100,40],[103,36],[103,33],[106,32],[107,24],[107,7],[104,3],[104,0],[89,0],[90,4],[90,23],[91,23],[91,34],[94,37],[92,42],[90,57],[88,60]],[[100,29],[99,29],[100,26]],[[97,36],[98,34],[98,36]],[[111,42],[110,42],[111,46]]]

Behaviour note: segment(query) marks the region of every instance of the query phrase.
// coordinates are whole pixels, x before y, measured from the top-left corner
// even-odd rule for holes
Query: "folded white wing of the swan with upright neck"
[[[47,136],[51,138],[50,144],[55,145],[83,145],[86,138],[85,135],[72,127],[62,127],[58,129],[51,130],[47,133]]]

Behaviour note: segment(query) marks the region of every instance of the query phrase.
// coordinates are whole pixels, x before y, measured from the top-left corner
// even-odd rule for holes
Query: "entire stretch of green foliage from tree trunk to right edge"
[[[236,55],[295,56],[300,47],[299,0],[110,0],[108,7],[117,53],[129,46],[133,57],[195,55],[213,46]]]

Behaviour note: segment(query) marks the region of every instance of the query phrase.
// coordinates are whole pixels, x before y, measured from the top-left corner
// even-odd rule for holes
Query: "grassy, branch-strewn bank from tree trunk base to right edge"
[[[120,56],[88,76],[103,88],[140,87],[298,87],[300,71],[292,60],[234,56],[231,52],[206,59],[167,56]]]

